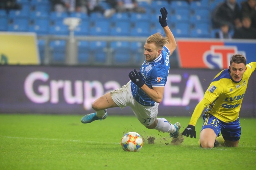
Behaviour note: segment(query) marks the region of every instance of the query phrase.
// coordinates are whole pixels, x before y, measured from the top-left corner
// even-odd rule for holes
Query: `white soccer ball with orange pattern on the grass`
[[[124,151],[138,152],[142,148],[143,140],[139,133],[128,132],[123,135],[121,145]]]

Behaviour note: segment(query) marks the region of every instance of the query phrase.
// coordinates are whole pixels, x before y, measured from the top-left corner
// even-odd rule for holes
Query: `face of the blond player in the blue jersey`
[[[154,61],[161,53],[161,49],[157,50],[157,47],[154,43],[148,44],[147,42],[144,45],[144,55],[145,60],[152,62]]]

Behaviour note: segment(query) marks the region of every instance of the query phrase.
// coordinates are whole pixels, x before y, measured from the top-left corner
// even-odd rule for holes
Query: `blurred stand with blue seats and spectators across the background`
[[[77,17],[79,63],[106,63],[109,55],[127,63],[130,52],[133,63],[141,63],[145,38],[163,33],[161,7],[175,38],[256,40],[256,0],[0,0],[0,31],[36,33],[41,63],[60,64],[70,36],[63,19]],[[111,53],[115,47],[120,53]]]

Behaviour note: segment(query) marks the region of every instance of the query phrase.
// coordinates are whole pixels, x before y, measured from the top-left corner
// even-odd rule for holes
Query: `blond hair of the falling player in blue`
[[[146,43],[154,43],[157,46],[157,48],[162,49],[164,45],[169,43],[169,41],[168,38],[164,37],[162,34],[155,33],[148,37]]]

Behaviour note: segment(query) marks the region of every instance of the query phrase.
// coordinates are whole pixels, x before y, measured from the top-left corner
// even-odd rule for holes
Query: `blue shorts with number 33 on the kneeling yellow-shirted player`
[[[211,114],[208,114],[209,116],[206,116],[203,114],[203,126],[202,129],[210,128],[214,130],[217,136],[221,135],[224,139],[230,140],[230,141],[238,141],[241,136],[241,126],[239,122],[239,118],[237,118],[234,122],[225,123],[219,120],[218,118],[212,116]]]

